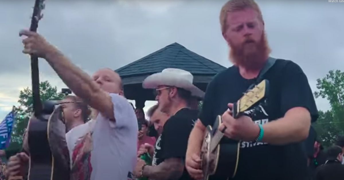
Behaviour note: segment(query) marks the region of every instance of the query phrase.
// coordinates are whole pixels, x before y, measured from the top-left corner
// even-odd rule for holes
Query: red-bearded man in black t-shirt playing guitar
[[[306,179],[302,141],[309,134],[311,121],[318,117],[306,75],[290,60],[269,57],[265,22],[254,0],[228,1],[221,10],[220,24],[234,65],[208,84],[199,119],[189,137],[187,171],[194,179],[204,178],[200,159],[203,134],[205,127],[222,115],[223,123],[218,128],[224,133],[221,143],[240,142],[233,179]],[[233,118],[233,103],[263,79],[270,84],[267,104],[255,117]],[[226,180],[232,175],[210,179]]]

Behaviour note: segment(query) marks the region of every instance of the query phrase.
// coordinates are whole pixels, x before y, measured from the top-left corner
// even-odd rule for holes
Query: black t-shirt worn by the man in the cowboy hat
[[[159,165],[165,159],[182,158],[185,160],[187,141],[197,120],[198,111],[183,108],[164,124],[164,129],[155,143],[152,165]],[[191,179],[184,168],[180,180]]]

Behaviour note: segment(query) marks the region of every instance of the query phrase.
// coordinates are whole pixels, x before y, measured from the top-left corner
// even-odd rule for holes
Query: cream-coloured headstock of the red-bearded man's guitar
[[[250,108],[257,109],[254,106],[262,103],[268,96],[269,81],[263,80],[253,88],[249,89],[244,95],[234,104],[233,117],[237,118]]]

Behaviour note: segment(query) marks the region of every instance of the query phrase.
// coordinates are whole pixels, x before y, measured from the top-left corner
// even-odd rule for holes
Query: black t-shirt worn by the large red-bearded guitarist
[[[255,123],[265,124],[276,120],[293,107],[305,107],[312,116],[318,118],[314,97],[306,75],[292,61],[276,60],[265,73],[263,79],[269,80],[267,106],[252,119]],[[200,120],[213,125],[217,115],[227,110],[228,103],[235,103],[256,79],[244,79],[236,66],[218,73],[208,84],[203,101]],[[226,142],[227,137],[222,139]],[[269,145],[267,143],[240,143],[240,155],[235,180],[298,180],[307,176],[307,159],[303,143],[288,145]]]

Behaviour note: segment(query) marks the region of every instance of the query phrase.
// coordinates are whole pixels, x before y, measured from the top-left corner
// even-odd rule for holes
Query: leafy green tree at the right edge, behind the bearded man
[[[314,92],[315,98],[326,98],[331,106],[330,111],[319,112],[316,130],[324,143],[332,143],[336,136],[344,134],[344,72],[329,71],[317,80],[316,87],[319,91]]]

